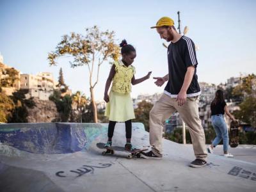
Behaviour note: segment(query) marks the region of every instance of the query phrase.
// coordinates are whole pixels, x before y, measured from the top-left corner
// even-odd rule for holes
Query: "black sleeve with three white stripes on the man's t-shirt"
[[[185,65],[186,67],[195,66],[198,64],[196,60],[196,50],[194,42],[187,36],[182,36],[185,42]]]

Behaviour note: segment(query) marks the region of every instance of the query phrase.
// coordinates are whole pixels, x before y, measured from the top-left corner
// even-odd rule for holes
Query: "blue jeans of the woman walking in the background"
[[[216,147],[223,140],[223,150],[228,151],[228,129],[223,115],[212,115],[212,126],[216,132],[216,138],[212,141],[212,145]]]

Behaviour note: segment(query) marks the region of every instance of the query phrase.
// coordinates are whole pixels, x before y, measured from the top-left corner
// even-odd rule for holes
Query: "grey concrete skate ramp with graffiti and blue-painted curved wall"
[[[256,191],[256,163],[209,155],[190,168],[193,148],[164,140],[164,157],[102,156],[108,124],[0,125],[0,191]],[[125,145],[125,125],[113,143]],[[143,124],[132,124],[132,143],[147,147]]]

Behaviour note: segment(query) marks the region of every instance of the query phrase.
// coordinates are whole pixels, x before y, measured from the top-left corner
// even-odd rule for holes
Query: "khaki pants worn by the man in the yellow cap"
[[[161,156],[163,152],[163,122],[172,113],[178,111],[182,120],[189,127],[196,158],[207,159],[205,134],[198,114],[198,102],[199,96],[188,97],[183,106],[178,106],[176,98],[172,98],[165,93],[161,95],[151,109],[149,118],[150,145],[152,145],[154,154]]]

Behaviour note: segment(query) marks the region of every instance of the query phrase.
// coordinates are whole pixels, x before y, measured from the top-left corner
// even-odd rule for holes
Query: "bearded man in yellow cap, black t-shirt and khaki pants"
[[[168,46],[169,72],[164,77],[154,77],[155,84],[166,87],[161,98],[150,111],[150,145],[152,150],[144,153],[145,158],[159,159],[163,157],[163,122],[172,113],[178,111],[180,117],[189,127],[193,143],[195,161],[189,166],[199,168],[207,164],[207,150],[205,146],[204,128],[198,114],[198,102],[201,94],[197,81],[195,44],[187,36],[177,33],[174,22],[170,17],[162,17],[156,23],[160,38],[171,42]]]

